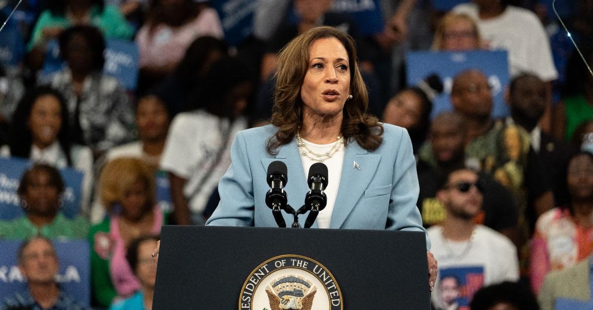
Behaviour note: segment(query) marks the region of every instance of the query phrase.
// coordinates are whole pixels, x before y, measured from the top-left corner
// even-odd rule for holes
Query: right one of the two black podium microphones
[[[327,166],[321,162],[315,162],[309,168],[307,184],[310,190],[305,196],[305,208],[310,212],[305,221],[305,228],[310,228],[319,212],[326,207],[327,196],[323,191],[327,188],[327,175]]]

